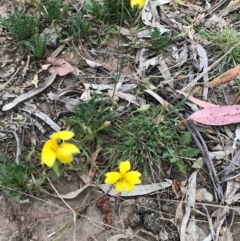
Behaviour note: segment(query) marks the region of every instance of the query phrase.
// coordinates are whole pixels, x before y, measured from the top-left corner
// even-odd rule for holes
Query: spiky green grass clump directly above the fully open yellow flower
[[[160,121],[161,119],[161,121]],[[185,165],[182,157],[193,157],[198,153],[188,148],[190,133],[182,134],[175,126],[177,119],[166,118],[154,110],[128,116],[116,122],[112,131],[113,144],[109,153],[114,159],[130,159],[134,167],[154,164],[162,170],[164,162],[174,164],[182,172]]]

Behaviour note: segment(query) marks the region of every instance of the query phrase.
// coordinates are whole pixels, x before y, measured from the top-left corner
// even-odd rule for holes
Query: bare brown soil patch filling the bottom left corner
[[[94,203],[86,211],[81,210],[82,203],[88,203],[86,196],[91,201],[96,193],[87,190],[67,202],[74,210],[79,210],[75,217],[57,198],[40,194],[39,198],[26,196],[26,199],[15,202],[1,194],[0,240],[91,240],[91,236],[104,227],[104,214]],[[121,232],[120,223],[116,223],[116,229],[104,231],[98,240],[106,240]]]

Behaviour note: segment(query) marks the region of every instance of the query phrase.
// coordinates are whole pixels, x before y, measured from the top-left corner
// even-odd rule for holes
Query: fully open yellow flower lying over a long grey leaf
[[[140,184],[141,180],[139,177],[141,173],[138,171],[130,171],[131,164],[129,161],[122,161],[119,164],[119,172],[108,172],[106,173],[106,184],[116,184],[115,189],[117,192],[132,192],[134,185]]]

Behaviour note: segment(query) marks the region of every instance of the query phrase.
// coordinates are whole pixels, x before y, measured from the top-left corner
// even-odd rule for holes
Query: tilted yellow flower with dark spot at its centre
[[[51,139],[46,141],[42,149],[42,163],[48,167],[53,167],[56,159],[62,163],[70,163],[73,160],[73,154],[80,153],[79,149],[70,143],[64,141],[73,138],[72,131],[59,131],[51,135]]]

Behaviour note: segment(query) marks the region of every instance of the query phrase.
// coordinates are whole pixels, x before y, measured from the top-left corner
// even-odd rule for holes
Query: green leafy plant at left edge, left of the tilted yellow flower
[[[5,153],[0,152],[0,185],[3,191],[14,197],[14,199],[19,199],[21,191],[33,172],[33,166],[26,165],[23,162],[23,158],[20,157],[20,164],[17,165],[11,158]]]

